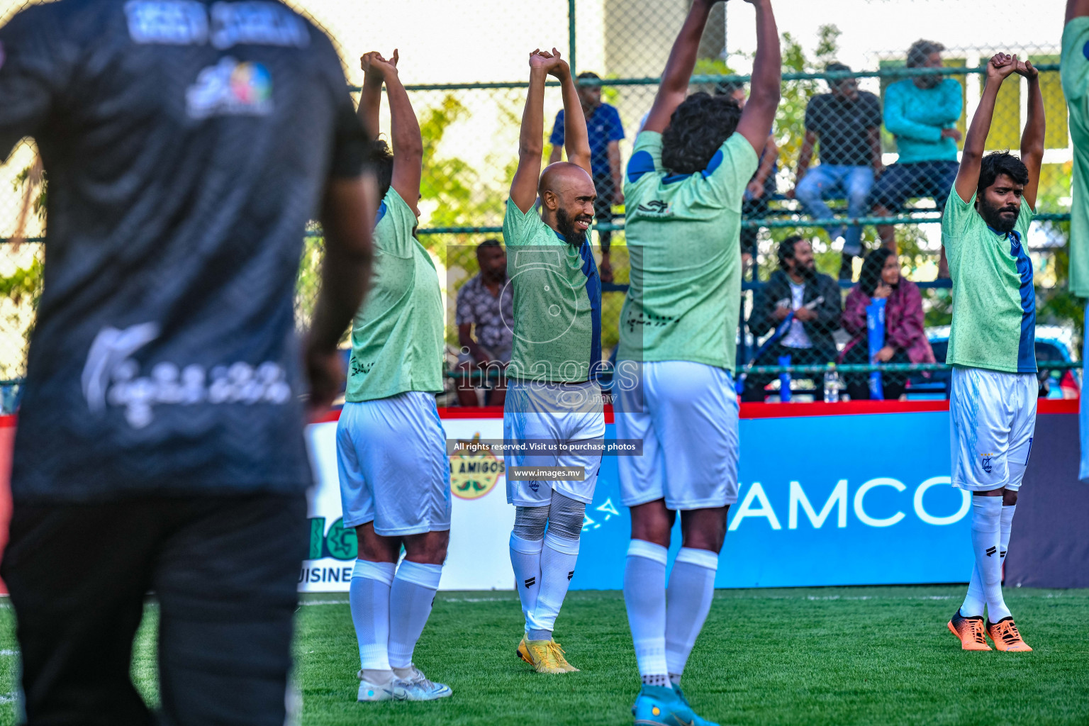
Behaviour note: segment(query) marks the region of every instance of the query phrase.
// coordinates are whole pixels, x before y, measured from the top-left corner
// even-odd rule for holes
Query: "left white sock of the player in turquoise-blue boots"
[[[671,688],[665,663],[665,557],[668,550],[645,540],[627,545],[624,606],[635,643],[639,676],[647,686]]]

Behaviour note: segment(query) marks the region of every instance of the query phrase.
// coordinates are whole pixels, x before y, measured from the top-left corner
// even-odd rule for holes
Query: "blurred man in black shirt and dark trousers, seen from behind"
[[[283,724],[311,483],[370,268],[369,143],[329,38],[280,2],[61,0],[0,28],[0,149],[49,174],[3,578],[27,723]],[[320,210],[320,212],[319,212]],[[307,220],[327,263],[306,345]]]

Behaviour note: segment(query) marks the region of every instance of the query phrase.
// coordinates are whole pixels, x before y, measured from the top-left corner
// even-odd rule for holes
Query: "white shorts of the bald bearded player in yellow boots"
[[[567,443],[603,440],[605,416],[601,387],[587,383],[536,383],[510,381],[503,407],[503,439]],[[552,490],[589,504],[598,483],[601,454],[530,454],[506,452],[503,460],[512,466],[564,466],[586,469],[584,481],[511,481],[506,479],[506,501],[523,507],[547,506]]]

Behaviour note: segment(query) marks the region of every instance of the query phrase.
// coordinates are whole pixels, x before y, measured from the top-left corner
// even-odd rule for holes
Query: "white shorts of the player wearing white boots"
[[[450,463],[435,396],[346,403],[337,424],[344,528],[383,537],[450,529]]]

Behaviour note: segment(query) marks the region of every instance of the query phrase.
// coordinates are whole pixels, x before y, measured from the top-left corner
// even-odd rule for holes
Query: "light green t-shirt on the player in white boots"
[[[370,291],[352,322],[345,401],[442,391],[442,296],[435,262],[393,187],[378,209]]]

